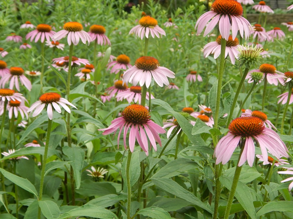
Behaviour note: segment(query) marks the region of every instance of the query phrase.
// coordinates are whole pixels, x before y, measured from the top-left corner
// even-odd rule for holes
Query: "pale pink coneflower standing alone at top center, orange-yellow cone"
[[[132,33],[134,33],[135,36],[139,36],[140,39],[143,39],[144,36],[149,38],[149,34],[151,34],[153,38],[155,38],[155,35],[160,38],[160,34],[166,36],[165,31],[158,26],[158,21],[150,16],[140,18],[139,25],[130,30],[129,34]]]

